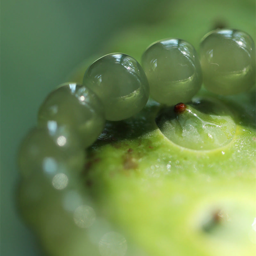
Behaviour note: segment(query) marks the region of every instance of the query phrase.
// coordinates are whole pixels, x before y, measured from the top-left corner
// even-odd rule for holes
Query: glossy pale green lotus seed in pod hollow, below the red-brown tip
[[[202,100],[187,105],[176,114],[167,109],[156,119],[161,132],[175,144],[196,150],[212,150],[227,145],[234,137],[236,124],[231,112],[221,103]]]

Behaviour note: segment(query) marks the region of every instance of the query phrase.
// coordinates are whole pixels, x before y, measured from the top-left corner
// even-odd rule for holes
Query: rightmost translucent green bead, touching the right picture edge
[[[255,45],[245,32],[214,30],[200,45],[204,86],[229,95],[245,92],[255,84]]]

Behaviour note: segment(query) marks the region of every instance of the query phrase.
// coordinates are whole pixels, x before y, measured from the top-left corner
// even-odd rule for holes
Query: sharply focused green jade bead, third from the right
[[[101,99],[106,119],[118,121],[137,114],[147,103],[149,87],[140,64],[132,57],[113,53],[86,70],[83,84]]]

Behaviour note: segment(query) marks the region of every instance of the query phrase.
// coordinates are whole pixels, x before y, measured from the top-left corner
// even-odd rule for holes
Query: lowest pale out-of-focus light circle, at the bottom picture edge
[[[100,239],[99,251],[102,256],[124,256],[127,251],[126,239],[119,233],[109,232]]]

